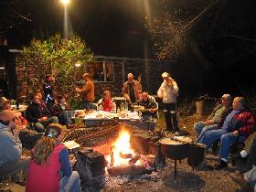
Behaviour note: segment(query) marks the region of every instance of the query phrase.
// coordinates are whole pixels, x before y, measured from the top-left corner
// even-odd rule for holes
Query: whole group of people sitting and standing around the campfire
[[[176,81],[166,73],[162,75],[162,83],[157,94],[164,102],[166,130],[179,132],[176,120],[176,97],[178,87]],[[83,107],[91,110],[94,101],[94,85],[90,75],[83,76],[85,85],[77,88],[83,101]],[[128,103],[128,109],[139,106],[141,119],[135,126],[154,130],[157,120],[158,103],[155,98],[143,91],[140,83],[133,80],[129,73],[128,80],[123,84],[123,97]],[[26,112],[12,110],[10,100],[0,99],[0,179],[23,170],[26,175],[26,190],[37,191],[80,191],[80,176],[72,171],[76,159],[61,141],[64,136],[63,127],[72,126],[71,117],[74,111],[65,96],[54,100],[51,76],[44,83],[44,96],[36,92],[28,104]],[[171,96],[167,93],[172,92]],[[98,109],[105,112],[117,112],[117,103],[112,99],[111,91],[103,91],[102,98],[97,103]],[[127,109],[127,110],[128,110]],[[204,122],[195,123],[194,129],[198,144],[205,144],[207,150],[213,147],[217,151],[219,144],[219,163],[215,169],[228,166],[229,152],[240,143],[245,142],[244,150],[230,155],[235,165],[239,159],[250,158],[251,165],[256,165],[256,119],[243,97],[235,97],[233,101],[229,94],[221,97],[221,103],[213,110]],[[32,131],[31,131],[32,130]],[[28,144],[29,143],[29,144]],[[22,147],[32,149],[31,157],[22,155]],[[251,167],[250,167],[251,168]],[[40,179],[37,179],[37,178]],[[232,174],[232,179],[242,187],[255,187],[256,168],[252,167],[245,174]],[[16,178],[18,179],[18,178]]]

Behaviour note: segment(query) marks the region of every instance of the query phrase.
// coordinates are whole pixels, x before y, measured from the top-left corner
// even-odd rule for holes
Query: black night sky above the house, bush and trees
[[[59,0],[14,1],[19,1],[17,9],[29,15],[32,21],[8,31],[10,47],[21,48],[32,37],[63,33],[64,7]],[[189,1],[193,2],[170,0],[168,3],[172,7],[177,2],[189,5]],[[84,38],[95,55],[145,58],[144,50],[147,49],[148,58],[153,59],[152,42],[144,28],[144,16],[148,13],[146,2],[150,14],[157,14],[160,0],[71,0],[69,21],[73,32]],[[178,63],[187,69],[187,74],[193,74],[195,68],[203,71],[204,91],[219,94],[224,90],[255,90],[251,82],[255,77],[253,64],[256,61],[253,40],[256,39],[256,1],[220,2],[214,12],[187,33],[186,50]],[[189,86],[190,76],[186,74],[185,81],[183,72],[180,71],[180,81]],[[198,76],[197,73],[193,75]]]

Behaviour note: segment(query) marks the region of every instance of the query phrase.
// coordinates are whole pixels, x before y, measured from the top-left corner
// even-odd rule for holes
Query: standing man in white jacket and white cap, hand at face
[[[167,72],[162,74],[164,82],[157,91],[157,96],[163,99],[166,130],[178,134],[179,128],[176,120],[176,97],[178,87],[176,81]]]

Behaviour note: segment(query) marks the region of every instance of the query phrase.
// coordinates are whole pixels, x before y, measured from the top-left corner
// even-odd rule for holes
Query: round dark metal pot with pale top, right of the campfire
[[[159,143],[161,144],[162,155],[165,155],[166,157],[172,158],[174,160],[187,158],[188,151],[191,147],[190,143],[180,141],[176,138],[164,138],[161,139]]]

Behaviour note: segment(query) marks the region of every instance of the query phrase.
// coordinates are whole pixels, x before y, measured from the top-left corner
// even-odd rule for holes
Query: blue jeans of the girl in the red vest
[[[64,176],[60,180],[59,192],[80,192],[80,175],[77,171],[72,171],[71,176]]]

